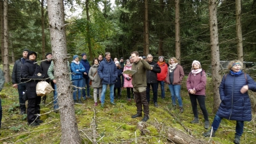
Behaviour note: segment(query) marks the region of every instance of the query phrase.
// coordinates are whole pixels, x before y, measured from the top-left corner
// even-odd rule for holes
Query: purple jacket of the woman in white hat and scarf
[[[189,72],[188,79],[187,79],[187,90],[190,90],[190,89],[193,90],[193,88],[195,88],[196,90],[195,95],[205,95],[205,85],[206,85],[206,74],[204,70],[202,71],[202,76],[201,76],[201,72],[196,74],[196,76],[194,76],[193,74],[191,74],[191,72]]]

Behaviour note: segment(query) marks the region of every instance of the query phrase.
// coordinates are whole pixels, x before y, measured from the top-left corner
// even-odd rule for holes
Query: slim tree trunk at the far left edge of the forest
[[[9,49],[8,49],[8,0],[4,0],[4,60],[3,71],[5,82],[10,82]]]

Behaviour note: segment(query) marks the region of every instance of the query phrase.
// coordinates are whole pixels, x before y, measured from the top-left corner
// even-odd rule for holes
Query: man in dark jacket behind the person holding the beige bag
[[[23,115],[26,113],[26,101],[22,99],[22,95],[26,90],[26,84],[25,83],[20,83],[20,70],[22,65],[25,63],[25,60],[28,56],[28,49],[24,49],[22,52],[22,58],[19,60],[15,61],[13,70],[12,70],[12,86],[14,88],[18,88],[19,92],[19,103],[20,103],[20,115]]]

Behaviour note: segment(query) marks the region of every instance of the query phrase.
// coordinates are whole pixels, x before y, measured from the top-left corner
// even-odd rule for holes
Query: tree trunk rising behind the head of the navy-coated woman
[[[236,0],[236,35],[237,35],[237,57],[238,60],[244,61],[243,58],[243,36],[241,24],[241,0]]]

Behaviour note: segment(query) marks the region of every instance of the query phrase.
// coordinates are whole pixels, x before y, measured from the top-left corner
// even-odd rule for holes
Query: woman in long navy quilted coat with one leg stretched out
[[[220,107],[212,122],[212,131],[204,133],[205,137],[215,136],[221,119],[236,120],[234,143],[239,144],[243,134],[244,121],[252,120],[252,108],[248,90],[255,91],[256,83],[241,70],[243,63],[239,60],[228,63],[229,73],[223,76],[220,84]]]

